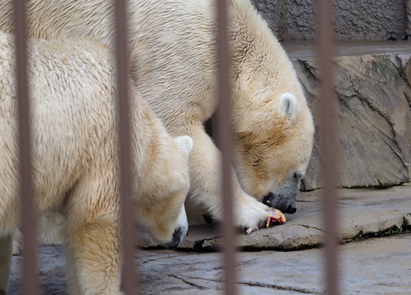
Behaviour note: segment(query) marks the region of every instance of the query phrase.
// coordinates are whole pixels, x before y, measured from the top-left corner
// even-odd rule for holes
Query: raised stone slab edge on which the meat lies
[[[250,235],[238,232],[236,245],[247,250],[301,250],[323,244],[322,190],[300,192],[298,210],[287,222]],[[340,241],[389,235],[410,229],[411,182],[390,189],[337,189]],[[192,226],[180,250],[212,251],[221,248],[219,226]],[[155,247],[142,234],[143,248]]]

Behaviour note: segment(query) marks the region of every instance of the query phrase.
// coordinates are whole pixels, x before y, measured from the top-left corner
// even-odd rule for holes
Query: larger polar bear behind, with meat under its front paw
[[[314,125],[289,58],[249,0],[229,0],[233,103],[233,212],[236,226],[256,228],[263,202],[284,213],[296,196],[312,150]],[[0,0],[0,30],[12,32],[12,1]],[[127,32],[134,83],[176,136],[195,141],[189,157],[189,223],[223,220],[220,153],[203,124],[218,106],[214,0],[129,0]],[[95,36],[114,46],[114,1],[28,0],[33,38]]]

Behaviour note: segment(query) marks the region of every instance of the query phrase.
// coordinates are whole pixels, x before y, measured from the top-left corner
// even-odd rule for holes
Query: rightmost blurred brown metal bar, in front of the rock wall
[[[319,0],[319,56],[320,56],[320,128],[323,152],[323,208],[325,222],[325,276],[327,294],[339,294],[338,287],[338,235],[336,209],[336,97],[332,71],[332,0]]]

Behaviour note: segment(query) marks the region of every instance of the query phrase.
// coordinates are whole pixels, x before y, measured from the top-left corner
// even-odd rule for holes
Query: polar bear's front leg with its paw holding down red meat
[[[190,202],[187,204],[200,204],[211,214],[212,219],[222,221],[221,153],[200,123],[197,125],[193,123],[189,127],[188,134],[195,144],[189,157]],[[241,189],[233,168],[232,175],[234,223],[238,228],[256,229],[266,221],[269,207]]]

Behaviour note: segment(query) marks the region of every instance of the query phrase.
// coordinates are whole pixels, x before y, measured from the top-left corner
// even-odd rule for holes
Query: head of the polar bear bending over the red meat
[[[314,135],[310,110],[302,91],[297,94],[300,99],[269,93],[266,102],[242,109],[234,128],[234,168],[242,189],[284,213],[297,211]]]

